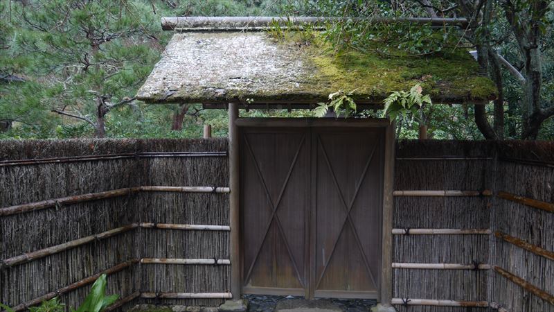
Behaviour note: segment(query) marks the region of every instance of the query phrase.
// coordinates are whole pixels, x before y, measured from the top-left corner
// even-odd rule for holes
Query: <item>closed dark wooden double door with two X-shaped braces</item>
[[[384,128],[334,122],[240,127],[243,293],[377,297]]]

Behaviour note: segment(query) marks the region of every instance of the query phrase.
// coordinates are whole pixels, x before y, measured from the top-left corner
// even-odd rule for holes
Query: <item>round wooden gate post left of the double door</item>
[[[231,293],[240,299],[240,203],[239,203],[239,138],[238,104],[229,103],[229,223],[231,225]]]

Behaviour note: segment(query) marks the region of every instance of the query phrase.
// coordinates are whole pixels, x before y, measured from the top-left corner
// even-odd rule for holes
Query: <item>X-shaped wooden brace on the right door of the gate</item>
[[[356,186],[356,190],[354,193],[354,196],[352,196],[352,200],[350,200],[350,205],[346,205],[346,200],[344,200],[344,196],[342,195],[341,189],[339,187],[339,182],[337,181],[337,177],[335,177],[331,162],[329,161],[329,157],[327,155],[327,152],[325,151],[325,146],[323,146],[323,142],[321,142],[321,138],[317,138],[318,144],[321,146],[321,150],[323,150],[323,156],[325,158],[325,162],[327,163],[327,166],[329,168],[329,172],[331,174],[331,177],[333,178],[334,186],[337,188],[337,193],[339,193],[339,198],[341,198],[341,202],[343,203],[343,209],[346,212],[346,216],[343,219],[341,230],[339,231],[339,235],[337,235],[337,239],[334,240],[333,248],[331,249],[331,254],[328,257],[327,261],[323,264],[323,270],[321,271],[321,275],[319,276],[319,279],[316,284],[317,289],[319,287],[319,284],[321,284],[321,280],[323,279],[323,275],[325,275],[325,271],[327,270],[329,263],[333,257],[334,250],[337,248],[337,243],[339,243],[339,239],[341,238],[341,234],[344,230],[344,226],[346,225],[346,222],[350,224],[352,227],[352,233],[354,234],[355,241],[358,245],[358,248],[361,252],[361,257],[364,259],[364,264],[366,266],[366,270],[368,271],[368,274],[373,281],[373,284],[375,284],[375,279],[373,278],[373,274],[371,274],[371,270],[369,267],[368,259],[366,258],[366,253],[364,252],[364,248],[362,248],[361,241],[359,240],[358,232],[356,231],[356,227],[354,226],[354,221],[352,221],[352,217],[350,216],[350,211],[352,210],[352,206],[354,205],[354,202],[356,200],[356,197],[358,196],[359,188],[361,187],[362,182],[364,182],[364,177],[366,176],[366,172],[368,171],[369,164],[371,162],[371,159],[373,159],[373,154],[375,153],[375,148],[377,148],[377,145],[373,146],[373,150],[371,150],[371,153],[368,157],[368,160],[366,162],[366,166],[364,167],[364,171],[361,172],[361,178],[359,179],[359,182]],[[325,260],[325,259],[323,259]],[[375,284],[376,285],[376,284]]]

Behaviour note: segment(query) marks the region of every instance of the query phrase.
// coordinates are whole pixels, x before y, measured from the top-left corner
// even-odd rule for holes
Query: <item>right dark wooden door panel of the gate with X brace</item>
[[[315,129],[316,297],[376,295],[380,265],[382,132]]]

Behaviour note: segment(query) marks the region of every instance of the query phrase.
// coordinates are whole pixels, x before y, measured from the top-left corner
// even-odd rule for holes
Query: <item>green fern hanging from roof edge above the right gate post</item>
[[[418,120],[420,124],[425,124],[425,114],[423,107],[425,104],[431,105],[429,94],[422,94],[422,87],[418,83],[414,85],[409,92],[395,91],[384,100],[384,110],[382,116],[390,116],[395,120],[398,116],[407,118],[409,114],[413,119]]]

